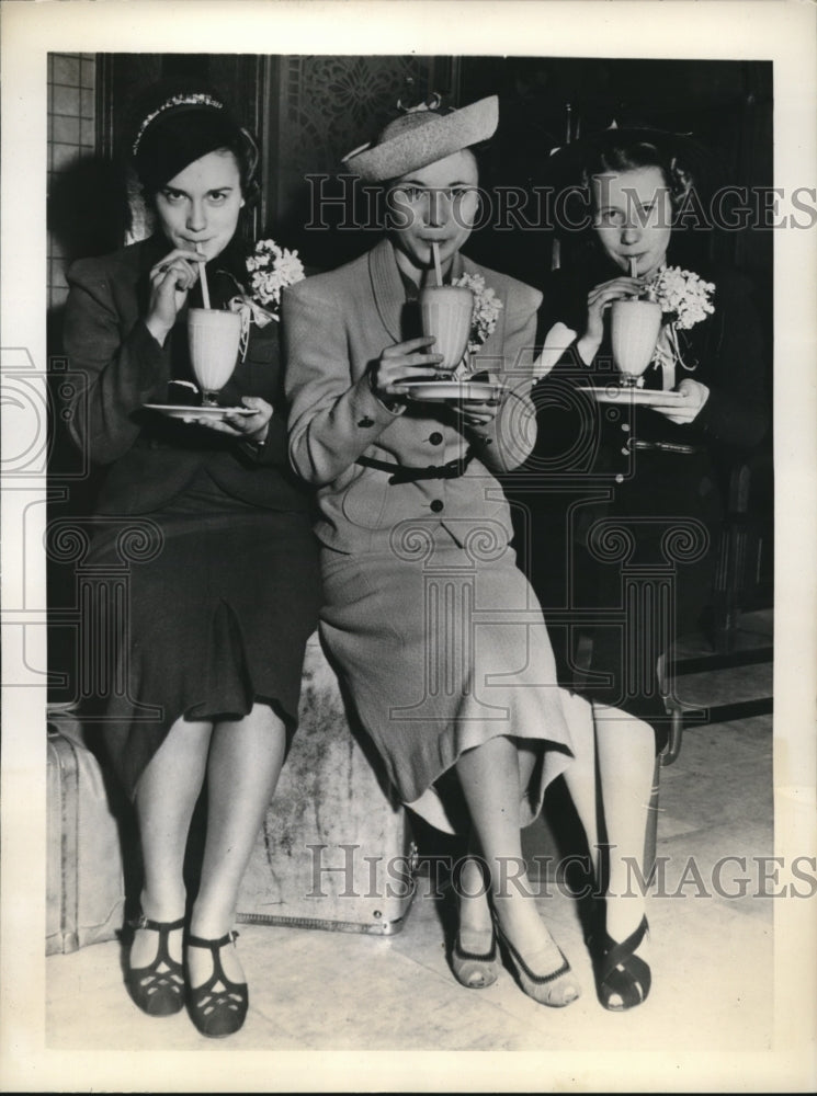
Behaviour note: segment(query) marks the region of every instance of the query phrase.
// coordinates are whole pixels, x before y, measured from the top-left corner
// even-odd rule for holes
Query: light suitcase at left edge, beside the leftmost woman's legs
[[[125,881],[120,826],[99,762],[70,716],[49,713],[46,955],[114,939]]]

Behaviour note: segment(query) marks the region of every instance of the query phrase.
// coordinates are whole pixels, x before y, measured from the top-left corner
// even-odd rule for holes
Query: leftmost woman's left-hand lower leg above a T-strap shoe
[[[190,821],[202,790],[212,724],[180,718],[151,757],[136,789],[136,810],[145,867],[141,911],[151,921],[184,916],[184,850]],[[182,932],[170,934],[170,955],[181,961]],[[134,936],[131,964],[152,961],[157,934],[139,929]]]

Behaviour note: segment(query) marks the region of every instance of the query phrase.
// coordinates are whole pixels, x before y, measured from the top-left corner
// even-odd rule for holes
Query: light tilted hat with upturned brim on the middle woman
[[[487,140],[498,124],[496,95],[447,114],[419,107],[389,122],[376,141],[354,149],[342,162],[365,182],[382,183]]]

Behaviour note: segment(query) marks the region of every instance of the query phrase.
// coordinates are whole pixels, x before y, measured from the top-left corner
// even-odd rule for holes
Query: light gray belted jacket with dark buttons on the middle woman
[[[390,411],[373,393],[367,369],[386,346],[408,338],[406,293],[392,243],[328,274],[307,278],[283,297],[285,387],[291,403],[290,459],[318,489],[320,540],[343,552],[388,550],[400,523],[443,525],[464,544],[478,527],[507,544],[510,512],[493,472],[518,467],[536,436],[530,399],[538,290],[455,256],[454,276],[481,274],[503,304],[475,368],[502,374],[509,386],[488,427],[469,430],[443,404]],[[390,483],[362,456],[408,468],[474,459],[464,475]]]

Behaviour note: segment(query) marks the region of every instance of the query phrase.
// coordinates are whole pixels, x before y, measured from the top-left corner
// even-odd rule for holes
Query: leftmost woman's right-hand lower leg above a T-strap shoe
[[[232,927],[238,889],[264,811],[275,790],[284,762],[286,732],[273,710],[256,704],[249,716],[217,723],[207,765],[207,835],[202,879],[190,929],[194,936],[217,939]],[[235,948],[222,951],[227,978],[243,981]],[[213,972],[208,951],[188,949],[193,986]]]

